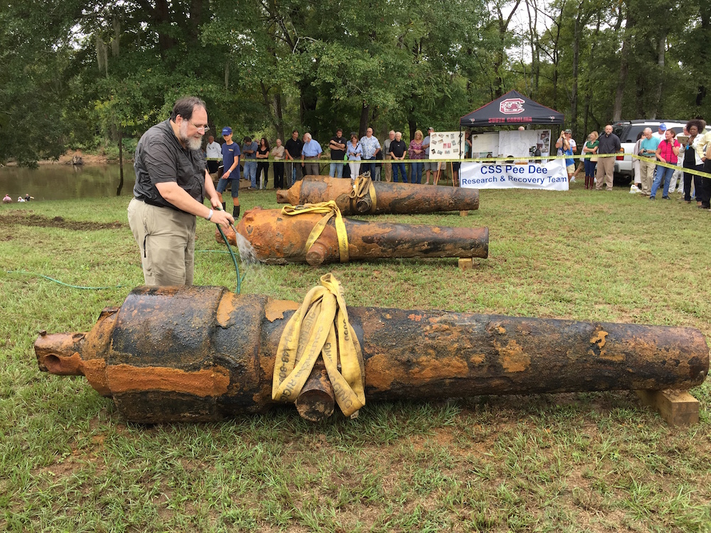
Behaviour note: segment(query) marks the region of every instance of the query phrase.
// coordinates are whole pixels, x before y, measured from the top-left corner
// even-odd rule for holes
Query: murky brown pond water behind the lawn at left
[[[133,165],[124,164],[122,196],[133,193]],[[39,168],[0,168],[0,197],[9,194],[14,201],[29,194],[35,200],[71,200],[115,196],[120,183],[118,165],[40,165]]]

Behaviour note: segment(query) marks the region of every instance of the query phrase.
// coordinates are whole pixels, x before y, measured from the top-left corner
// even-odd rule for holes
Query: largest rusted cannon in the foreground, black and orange
[[[297,307],[223,287],[139,287],[90,332],[41,335],[35,351],[41,370],[85,375],[130,421],[218,420],[274,405],[277,346]],[[349,307],[348,316],[366,402],[689,389],[709,367],[693,328],[373,307]],[[312,372],[315,382],[322,375]],[[325,385],[302,391],[322,411]]]

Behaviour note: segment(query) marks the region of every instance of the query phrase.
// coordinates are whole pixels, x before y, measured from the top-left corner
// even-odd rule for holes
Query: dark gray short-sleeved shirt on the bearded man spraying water
[[[202,150],[188,150],[180,144],[171,122],[161,122],[143,134],[134,155],[134,196],[150,205],[178,210],[165,200],[156,183],[173,181],[192,198],[205,199],[205,156]]]

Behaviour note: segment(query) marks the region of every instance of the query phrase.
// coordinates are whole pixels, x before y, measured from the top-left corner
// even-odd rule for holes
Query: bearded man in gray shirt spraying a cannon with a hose
[[[201,145],[208,129],[205,102],[185,97],[136,147],[128,217],[148,286],[193,284],[196,216],[225,228],[235,222],[220,210],[220,194],[205,168]],[[205,195],[214,210],[203,205]]]

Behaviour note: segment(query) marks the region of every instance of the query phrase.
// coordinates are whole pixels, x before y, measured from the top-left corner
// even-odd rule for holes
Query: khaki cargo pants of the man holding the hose
[[[129,226],[141,251],[148,286],[193,284],[195,215],[159,208],[134,198],[128,208]]]

